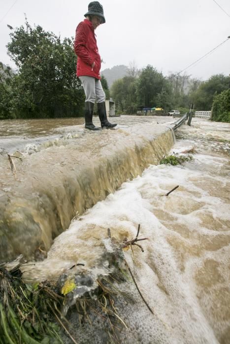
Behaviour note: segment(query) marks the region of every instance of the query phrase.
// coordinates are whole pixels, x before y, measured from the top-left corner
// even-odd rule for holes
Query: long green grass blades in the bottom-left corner
[[[63,344],[52,313],[59,300],[52,284],[26,284],[19,269],[0,268],[0,343]]]

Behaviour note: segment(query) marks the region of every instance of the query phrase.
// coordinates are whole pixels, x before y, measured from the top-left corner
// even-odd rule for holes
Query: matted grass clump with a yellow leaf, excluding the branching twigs
[[[23,282],[19,267],[11,272],[0,268],[0,344],[64,344],[65,336],[76,344],[65,317],[66,306],[69,309],[73,305],[80,327],[92,325],[92,318],[99,316],[108,337],[119,343],[116,332],[126,324],[115,308],[114,297],[119,290],[113,281],[121,283],[125,276],[125,270],[118,267],[116,274],[99,278],[94,291],[74,300],[78,286],[66,276],[63,287],[63,275],[58,283],[32,285]]]

